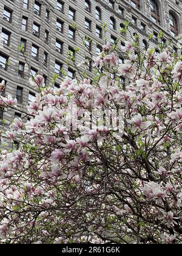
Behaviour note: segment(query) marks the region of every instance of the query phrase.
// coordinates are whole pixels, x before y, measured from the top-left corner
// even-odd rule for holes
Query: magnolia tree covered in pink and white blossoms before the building
[[[0,243],[182,243],[182,61],[158,48],[126,42],[118,64],[107,43],[91,80],[30,81],[30,121],[1,134],[19,149],[0,157]]]

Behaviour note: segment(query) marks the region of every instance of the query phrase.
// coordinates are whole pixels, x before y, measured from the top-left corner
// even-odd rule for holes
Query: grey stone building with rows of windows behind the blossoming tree
[[[80,48],[75,56],[77,62],[90,57],[89,51],[99,54],[106,38],[114,43],[121,37],[124,21],[130,21],[132,33],[140,35],[141,47],[145,47],[149,34],[153,32],[157,37],[159,30],[163,30],[164,40],[180,44],[175,37],[182,35],[182,1],[1,0],[0,82],[5,80],[6,95],[18,99],[18,111],[0,110],[0,129],[8,128],[15,117],[24,118],[25,106],[35,96],[35,88],[29,85],[30,76],[41,74],[50,83],[53,73],[64,69],[73,77],[75,69],[66,64],[67,52],[74,52],[75,46]],[[77,24],[79,35],[73,23]],[[107,24],[106,35],[103,23]],[[90,40],[85,46],[86,36]]]

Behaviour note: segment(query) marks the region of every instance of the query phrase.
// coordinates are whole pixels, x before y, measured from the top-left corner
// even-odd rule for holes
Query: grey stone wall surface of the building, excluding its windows
[[[40,7],[35,9],[35,2]],[[59,2],[59,4],[58,4]],[[135,2],[140,2],[140,9],[135,7]],[[96,55],[96,46],[101,46],[105,43],[105,38],[99,38],[96,35],[96,27],[102,27],[103,23],[107,24],[106,38],[111,40],[119,38],[121,24],[126,21],[132,21],[130,29],[133,34],[140,35],[140,44],[146,40],[148,35],[152,32],[158,33],[159,30],[164,31],[164,38],[174,41],[175,44],[180,44],[180,40],[176,40],[170,34],[170,19],[169,13],[175,16],[177,22],[178,35],[182,34],[182,1],[178,0],[156,0],[158,5],[158,14],[160,16],[160,24],[152,21],[150,0],[4,0],[0,1],[0,31],[9,35],[8,43],[4,43],[1,37],[0,55],[6,56],[8,65],[6,69],[0,65],[0,79],[6,81],[5,94],[11,94],[16,97],[17,87],[22,88],[22,102],[18,104],[19,111],[15,113],[12,111],[3,113],[3,118],[6,119],[4,127],[10,125],[10,121],[16,115],[25,116],[25,105],[29,101],[29,94],[35,93],[35,88],[29,85],[30,67],[36,69],[39,74],[44,77],[49,77],[47,82],[51,82],[52,74],[55,71],[55,62],[62,63],[62,68],[67,72],[67,51],[70,48],[78,46],[81,48],[81,54],[76,55],[78,62],[85,59],[89,52],[83,45],[81,37],[85,38],[87,35],[92,41],[92,53]],[[28,3],[28,4],[27,4]],[[64,6],[62,5],[64,4]],[[90,10],[86,6],[89,5]],[[37,7],[36,6],[36,7]],[[62,7],[60,7],[62,6]],[[96,18],[95,10],[101,11],[101,20]],[[58,10],[59,9],[59,10]],[[10,22],[8,21],[8,13],[4,10],[10,11]],[[75,12],[75,23],[78,26],[80,35],[76,35],[75,40],[69,38],[69,28],[72,27],[73,20],[70,19],[69,11]],[[47,16],[45,15],[47,12]],[[7,16],[7,18],[5,18]],[[22,30],[23,23],[27,20],[26,30]],[[115,29],[110,28],[110,17],[115,22]],[[56,29],[56,20],[63,24],[61,31]],[[89,29],[86,29],[85,20],[90,21]],[[39,26],[39,36],[33,34],[33,24]],[[87,24],[88,26],[88,24]],[[141,26],[144,26],[143,28]],[[48,40],[45,40],[45,30],[49,32]],[[144,31],[145,30],[145,31]],[[130,35],[128,35],[130,40]],[[21,39],[26,41],[25,58],[19,51]],[[62,43],[62,51],[56,50],[56,40]],[[153,42],[155,43],[155,42]],[[7,45],[8,44],[8,45]],[[38,56],[32,57],[32,44],[38,49]],[[47,55],[47,63],[44,63],[44,52]],[[1,61],[0,61],[1,62]],[[19,63],[24,65],[24,77],[19,77]],[[29,65],[28,65],[29,63]],[[1,64],[1,63],[0,63]],[[74,70],[74,67],[72,67]],[[58,79],[59,82],[59,79]]]

